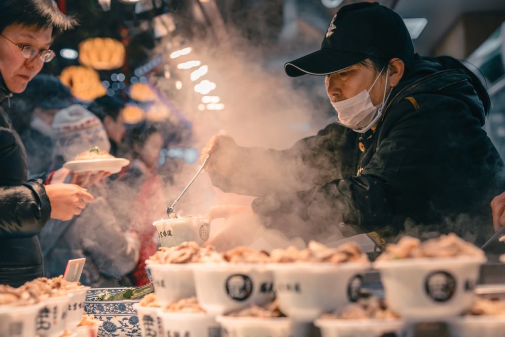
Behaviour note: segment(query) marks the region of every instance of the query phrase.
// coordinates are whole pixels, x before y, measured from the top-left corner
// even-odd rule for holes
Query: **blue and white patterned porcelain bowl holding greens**
[[[121,292],[127,288],[92,288],[87,292],[84,310],[104,323],[98,330],[100,337],[141,337],[135,303],[141,300],[98,301],[97,296]]]

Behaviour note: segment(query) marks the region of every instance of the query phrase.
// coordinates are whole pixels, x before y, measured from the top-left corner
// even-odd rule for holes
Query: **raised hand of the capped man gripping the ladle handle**
[[[237,144],[232,137],[226,134],[217,134],[207,142],[207,145],[200,152],[200,162],[203,163],[208,156],[211,156],[205,166],[207,172],[211,170],[225,173],[232,163],[232,154],[237,149]]]

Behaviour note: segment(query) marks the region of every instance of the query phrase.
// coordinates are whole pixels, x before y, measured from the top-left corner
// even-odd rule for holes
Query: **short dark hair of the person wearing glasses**
[[[54,34],[77,25],[77,21],[58,9],[54,0],[0,1],[0,33],[10,25],[45,29],[53,27]]]

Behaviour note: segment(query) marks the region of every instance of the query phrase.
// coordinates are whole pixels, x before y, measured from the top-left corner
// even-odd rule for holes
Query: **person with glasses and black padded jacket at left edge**
[[[44,62],[54,58],[49,50],[54,35],[75,25],[50,0],[0,2],[0,102],[25,90]],[[42,276],[35,235],[49,217],[70,219],[92,200],[77,185],[27,180],[26,151],[0,110],[0,284],[19,286]]]

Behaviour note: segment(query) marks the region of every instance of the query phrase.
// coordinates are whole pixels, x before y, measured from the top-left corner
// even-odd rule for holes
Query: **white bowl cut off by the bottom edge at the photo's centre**
[[[257,318],[218,316],[222,337],[291,337],[291,322],[287,317]]]

